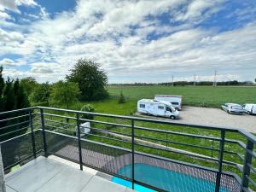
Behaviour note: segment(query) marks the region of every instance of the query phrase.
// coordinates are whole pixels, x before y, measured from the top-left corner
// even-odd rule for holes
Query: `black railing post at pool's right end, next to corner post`
[[[223,155],[224,155],[224,142],[225,142],[225,131],[221,131],[221,138],[219,143],[219,152],[218,152],[218,172],[215,183],[215,192],[219,192],[220,188],[220,179],[222,174],[222,164],[223,164]]]

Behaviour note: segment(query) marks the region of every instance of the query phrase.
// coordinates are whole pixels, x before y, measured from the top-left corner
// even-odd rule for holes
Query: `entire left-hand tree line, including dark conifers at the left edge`
[[[94,61],[80,59],[64,80],[54,84],[49,84],[49,82],[39,84],[32,77],[3,79],[3,67],[0,67],[0,113],[29,108],[31,105],[70,108],[73,102],[105,99],[108,97],[108,76],[100,67],[100,64]],[[81,110],[95,111],[90,105],[85,105]],[[27,112],[0,114],[0,119],[9,119],[24,114]],[[93,117],[85,115],[84,118],[92,119]],[[0,122],[0,141],[25,133],[29,126],[28,122],[28,116]]]

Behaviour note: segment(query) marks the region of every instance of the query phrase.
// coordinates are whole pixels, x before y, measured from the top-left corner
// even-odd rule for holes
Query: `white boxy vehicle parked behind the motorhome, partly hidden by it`
[[[171,102],[173,108],[181,110],[183,96],[155,95],[154,100]]]

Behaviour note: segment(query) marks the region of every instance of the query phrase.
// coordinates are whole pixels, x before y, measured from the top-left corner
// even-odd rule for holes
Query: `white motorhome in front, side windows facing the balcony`
[[[177,119],[179,112],[170,102],[142,99],[137,102],[137,112]]]

